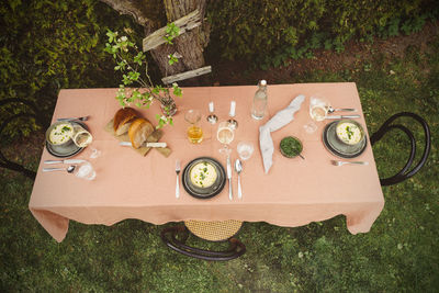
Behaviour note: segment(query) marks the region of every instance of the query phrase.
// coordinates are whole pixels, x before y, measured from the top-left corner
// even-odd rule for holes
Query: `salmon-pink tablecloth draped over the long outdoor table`
[[[165,158],[151,150],[146,157],[127,147],[119,146],[116,139],[106,133],[104,125],[120,108],[114,99],[116,89],[61,90],[55,109],[58,117],[90,115],[87,122],[94,140],[75,158],[89,159],[97,170],[93,181],[85,181],[65,172],[42,172],[43,160],[54,159],[46,149],[43,151],[30,210],[43,227],[57,240],[67,234],[69,219],[85,224],[112,225],[125,218],[138,218],[154,224],[183,219],[240,219],[268,222],[274,225],[294,227],[315,221],[324,221],[339,214],[347,217],[350,233],[369,232],[384,205],[370,144],[358,158],[369,166],[331,166],[335,157],[322,143],[322,131],[307,134],[303,127],[309,121],[308,98],[325,95],[335,108],[356,108],[362,114],[360,99],[354,83],[305,83],[269,86],[269,116],[285,108],[293,98],[305,94],[302,109],[292,123],[272,134],[277,150],[273,167],[263,173],[262,159],[258,148],[258,127],[263,121],[250,117],[250,105],[256,91],[248,87],[184,88],[183,98],[177,98],[179,108],[175,126],[165,127],[162,142],[167,142],[172,154]],[[210,200],[198,200],[181,189],[180,199],[175,196],[176,159],[184,167],[190,160],[210,156],[225,167],[225,158],[218,153],[215,126],[205,122],[207,103],[215,102],[219,120],[226,120],[232,100],[237,102],[236,120],[239,127],[232,144],[237,158],[239,140],[250,140],[256,151],[244,164],[241,183],[244,198],[238,200],[237,176],[234,173],[235,199],[229,201],[228,188]],[[202,110],[205,139],[191,145],[185,138],[184,111],[191,108]],[[144,116],[155,122],[158,105],[143,111]],[[364,119],[359,120],[365,126]],[[302,160],[288,159],[278,151],[282,137],[295,135],[304,144]],[[212,138],[213,137],[213,138]],[[369,143],[369,142],[368,142]],[[101,156],[90,159],[91,149]]]

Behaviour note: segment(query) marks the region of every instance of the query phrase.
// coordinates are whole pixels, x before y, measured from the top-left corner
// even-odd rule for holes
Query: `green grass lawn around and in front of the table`
[[[409,46],[403,57],[371,52],[370,58],[358,60],[352,68],[313,70],[279,82],[324,81],[357,82],[370,133],[401,111],[420,114],[431,128],[427,165],[414,178],[383,188],[385,206],[370,233],[351,235],[341,215],[295,228],[245,223],[238,237],[247,252],[228,262],[176,253],[159,237],[170,224],[156,226],[135,219],[110,227],[70,222],[66,239],[58,244],[27,210],[33,182],[0,169],[0,290],[437,292],[439,40],[432,40],[427,49]],[[423,138],[420,127],[404,123]],[[408,156],[406,145],[406,137],[395,132],[373,147],[382,177],[403,166]],[[35,155],[29,162],[34,169],[40,154]]]

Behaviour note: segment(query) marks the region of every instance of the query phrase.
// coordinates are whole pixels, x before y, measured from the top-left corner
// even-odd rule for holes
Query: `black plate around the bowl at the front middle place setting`
[[[217,174],[216,181],[209,188],[195,187],[192,184],[192,182],[190,180],[190,171],[191,171],[192,167],[202,161],[206,161],[206,162],[211,164],[216,170],[216,174]],[[224,170],[224,167],[217,160],[215,160],[214,158],[210,158],[210,157],[200,157],[200,158],[191,160],[184,167],[181,178],[182,178],[181,180],[182,180],[184,190],[192,196],[194,196],[196,199],[203,199],[203,200],[213,198],[216,194],[218,194],[223,190],[223,188],[226,183],[226,172]]]

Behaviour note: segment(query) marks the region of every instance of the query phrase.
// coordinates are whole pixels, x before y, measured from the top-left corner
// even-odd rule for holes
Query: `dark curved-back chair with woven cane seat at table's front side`
[[[161,239],[169,248],[188,257],[213,261],[232,260],[246,252],[246,246],[233,237],[241,226],[243,222],[235,219],[185,221],[184,226],[165,228],[161,232]],[[190,233],[209,241],[228,241],[228,249],[213,251],[188,246],[185,241]],[[178,235],[181,240],[177,239]]]

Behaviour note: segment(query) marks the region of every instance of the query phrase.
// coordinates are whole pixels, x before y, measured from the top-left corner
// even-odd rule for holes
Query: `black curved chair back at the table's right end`
[[[404,125],[392,124],[396,119],[403,117],[403,116],[412,117],[413,120],[418,122],[424,128],[424,135],[425,135],[424,154],[423,154],[421,158],[419,159],[418,164],[413,168],[412,168],[412,166],[414,164],[414,159],[415,159],[415,156],[416,156],[415,136]],[[401,112],[401,113],[394,114],[393,116],[387,119],[383,123],[383,125],[378,129],[378,132],[372,134],[372,136],[370,137],[371,145],[373,146],[373,144],[375,144],[381,138],[383,138],[383,136],[391,129],[401,129],[401,131],[403,131],[408,136],[408,139],[410,140],[412,149],[410,149],[410,155],[409,155],[409,157],[407,159],[407,162],[405,164],[405,166],[396,174],[394,174],[392,177],[389,177],[389,178],[380,179],[381,185],[383,185],[383,187],[387,187],[387,185],[393,185],[393,184],[399,183],[399,182],[402,182],[404,180],[407,180],[408,178],[413,177],[414,174],[416,174],[420,170],[420,168],[423,168],[423,166],[426,164],[428,155],[430,154],[430,148],[431,148],[430,128],[428,127],[427,122],[423,117],[420,117],[419,115],[417,115],[415,113]]]

